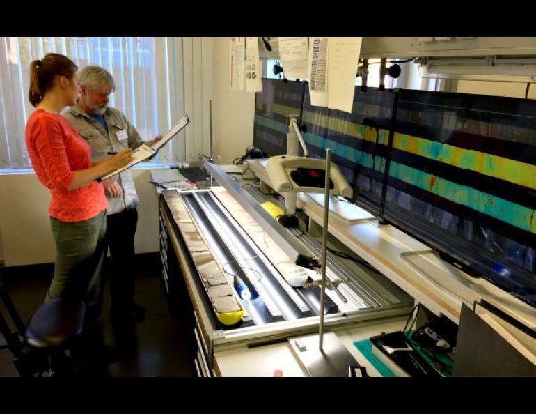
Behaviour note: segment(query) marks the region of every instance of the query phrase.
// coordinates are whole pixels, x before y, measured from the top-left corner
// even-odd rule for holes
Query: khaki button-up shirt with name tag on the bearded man
[[[104,130],[99,121],[88,116],[79,105],[66,109],[62,115],[91,146],[93,161],[109,158],[109,152],[118,152],[125,148],[136,149],[143,144],[143,139],[139,136],[134,125],[129,123],[127,117],[118,109],[107,107],[106,112],[104,112],[104,122],[108,126],[108,132]],[[126,137],[125,132],[120,131],[125,131]],[[110,179],[121,186],[123,193],[117,198],[106,194],[109,204],[108,215],[120,213],[126,208],[134,208],[139,205],[132,173],[128,169]]]

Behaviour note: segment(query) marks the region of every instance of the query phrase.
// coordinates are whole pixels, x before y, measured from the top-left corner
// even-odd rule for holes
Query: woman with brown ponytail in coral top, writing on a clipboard
[[[45,302],[60,297],[85,300],[88,312],[98,316],[108,204],[96,180],[127,164],[132,150],[91,162],[90,146],[60,115],[78,98],[77,70],[63,54],[49,53],[31,63],[29,100],[36,111],[26,123],[26,147],[39,181],[52,194],[56,263]]]

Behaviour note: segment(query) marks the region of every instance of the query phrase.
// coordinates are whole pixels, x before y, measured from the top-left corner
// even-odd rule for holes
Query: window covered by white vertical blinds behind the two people
[[[34,59],[56,52],[68,56],[80,69],[89,64],[107,69],[116,82],[110,105],[120,109],[141,137],[149,140],[166,132],[186,113],[188,102],[198,99],[201,88],[184,86],[184,72],[189,81],[201,76],[192,70],[203,67],[201,53],[189,57],[183,53],[184,48],[196,47],[202,47],[200,38],[0,37],[0,169],[31,167],[24,129],[34,110],[28,101],[29,64]],[[187,143],[184,131],[180,134],[183,139],[170,141],[153,162],[184,160]]]

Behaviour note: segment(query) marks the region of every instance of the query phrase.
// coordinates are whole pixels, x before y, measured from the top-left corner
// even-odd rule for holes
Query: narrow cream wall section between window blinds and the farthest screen
[[[255,93],[230,89],[229,38],[214,38],[212,144],[220,164],[230,164],[253,143]]]

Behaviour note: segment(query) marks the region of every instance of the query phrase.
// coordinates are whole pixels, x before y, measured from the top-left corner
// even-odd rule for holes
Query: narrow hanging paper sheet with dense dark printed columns
[[[328,105],[328,38],[310,38],[309,43],[309,95],[311,105]]]

